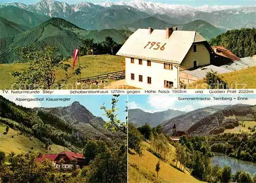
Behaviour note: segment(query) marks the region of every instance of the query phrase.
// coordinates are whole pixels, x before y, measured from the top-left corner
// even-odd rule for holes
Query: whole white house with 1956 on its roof
[[[215,52],[195,31],[148,28],[131,35],[117,55],[125,57],[126,85],[164,89],[178,88],[182,70],[209,65]]]

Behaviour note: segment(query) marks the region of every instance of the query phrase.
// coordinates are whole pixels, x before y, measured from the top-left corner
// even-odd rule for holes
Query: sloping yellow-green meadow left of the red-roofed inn
[[[63,150],[68,150],[65,147],[55,144],[51,145],[51,150],[47,150],[45,144],[38,139],[20,135],[19,131],[12,128],[9,128],[9,132],[6,134],[6,126],[0,123],[0,151],[4,151],[5,153],[27,153],[32,150],[32,147],[33,150],[42,153],[59,153]]]

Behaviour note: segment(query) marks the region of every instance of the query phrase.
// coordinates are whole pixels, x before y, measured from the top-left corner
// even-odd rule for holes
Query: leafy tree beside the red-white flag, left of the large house
[[[58,54],[57,47],[46,46],[45,49],[33,44],[28,47],[17,48],[20,62],[29,63],[28,67],[15,71],[12,76],[16,78],[12,89],[62,89],[69,79],[81,73],[81,68],[69,73],[68,58]],[[57,73],[61,72],[59,76]]]

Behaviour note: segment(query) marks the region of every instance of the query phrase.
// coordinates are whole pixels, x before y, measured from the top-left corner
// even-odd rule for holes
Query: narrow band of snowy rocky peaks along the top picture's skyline
[[[41,0],[40,2],[34,5],[25,5],[22,3],[2,3],[2,6],[13,5],[19,8],[26,9],[28,11],[33,11],[37,13],[44,13],[48,16],[54,16],[57,13],[63,14],[63,16],[67,16],[65,14],[71,14],[77,11],[88,11],[88,9],[94,9],[97,11],[102,8],[109,8],[115,5],[118,6],[130,6],[139,11],[144,11],[148,14],[167,14],[172,17],[178,17],[186,14],[195,13],[197,11],[201,12],[213,12],[213,11],[221,11],[221,10],[232,10],[231,13],[235,13],[239,11],[241,8],[244,10],[244,13],[250,13],[251,11],[255,11],[256,6],[251,7],[241,7],[241,6],[200,6],[200,7],[191,7],[187,5],[171,5],[171,4],[162,4],[155,3],[153,1],[143,1],[143,0],[132,0],[130,2],[105,2],[105,3],[88,3],[81,2],[75,5],[69,5],[65,2],[57,2],[53,0]]]

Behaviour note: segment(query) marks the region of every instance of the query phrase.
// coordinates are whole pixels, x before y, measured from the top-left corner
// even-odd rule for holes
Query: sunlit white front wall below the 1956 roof
[[[134,73],[135,80],[131,80],[131,73]],[[142,75],[143,82],[139,82],[139,75]],[[151,77],[151,85],[147,84],[147,77]],[[141,89],[165,89],[164,80],[173,82],[174,88],[178,88],[178,68],[173,65],[173,70],[164,69],[163,63],[151,61],[151,66],[147,66],[147,60],[125,58],[125,82],[126,85]]]

